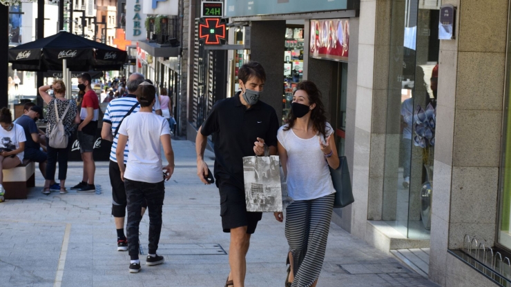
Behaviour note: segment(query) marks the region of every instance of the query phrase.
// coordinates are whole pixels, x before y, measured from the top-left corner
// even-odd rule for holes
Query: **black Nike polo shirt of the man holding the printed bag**
[[[216,132],[216,180],[229,181],[243,189],[243,157],[255,155],[253,146],[258,137],[267,146],[276,147],[278,128],[273,107],[258,101],[247,110],[240,101],[240,92],[215,103],[202,123],[201,133],[207,137]]]

